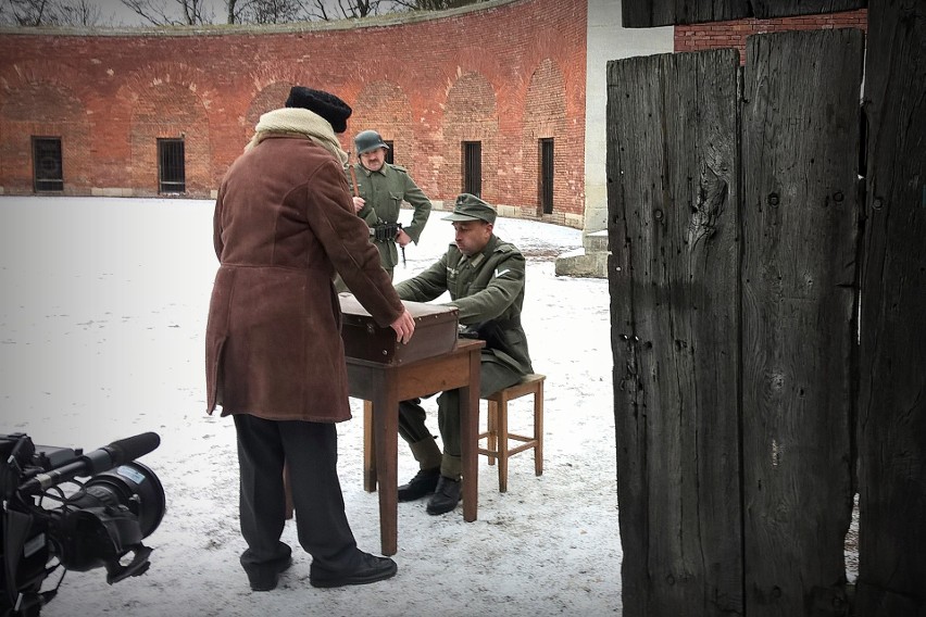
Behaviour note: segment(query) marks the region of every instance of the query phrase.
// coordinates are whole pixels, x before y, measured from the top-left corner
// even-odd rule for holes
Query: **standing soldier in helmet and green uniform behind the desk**
[[[430,200],[422,192],[409,172],[386,162],[389,148],[375,130],[363,130],[354,137],[358,163],[348,164],[348,184],[353,194],[353,207],[366,222],[383,268],[392,277],[399,263],[399,251],[409,242],[418,242],[427,217]],[[408,227],[399,224],[399,211],[405,201],[415,210]]]

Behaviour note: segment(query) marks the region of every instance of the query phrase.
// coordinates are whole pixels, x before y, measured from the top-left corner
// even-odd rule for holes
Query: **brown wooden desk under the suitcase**
[[[399,503],[399,402],[460,389],[463,463],[463,519],[476,520],[478,499],[479,366],[484,341],[461,339],[452,352],[399,365],[347,358],[350,395],[373,403],[375,459],[364,461],[364,488],[379,482],[379,536],[384,555],[395,555]],[[365,418],[366,419],[366,418]],[[372,426],[371,426],[372,425]]]

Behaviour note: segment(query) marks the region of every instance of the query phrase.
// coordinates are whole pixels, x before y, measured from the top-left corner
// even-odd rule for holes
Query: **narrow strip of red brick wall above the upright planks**
[[[746,62],[746,38],[781,30],[812,30],[828,28],[861,28],[867,30],[868,12],[865,9],[825,15],[804,15],[780,20],[741,20],[714,22],[675,27],[675,51],[699,51],[735,47],[740,62]]]

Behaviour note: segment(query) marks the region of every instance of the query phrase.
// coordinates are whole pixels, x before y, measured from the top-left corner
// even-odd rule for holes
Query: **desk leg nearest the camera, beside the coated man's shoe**
[[[379,539],[384,555],[398,550],[399,519],[399,399],[393,380],[387,379],[373,401],[373,442],[379,480]]]

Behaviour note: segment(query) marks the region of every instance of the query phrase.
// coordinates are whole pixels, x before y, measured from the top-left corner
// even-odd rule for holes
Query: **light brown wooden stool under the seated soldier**
[[[486,396],[489,402],[488,427],[479,433],[479,440],[487,440],[486,448],[479,448],[479,454],[489,457],[489,465],[499,459],[499,492],[508,491],[508,459],[518,452],[534,449],[534,473],[543,474],[543,375],[525,375],[514,386],[499,390]],[[521,396],[534,394],[534,437],[515,435],[508,431],[508,403]],[[521,441],[521,445],[509,448],[509,440]]]

